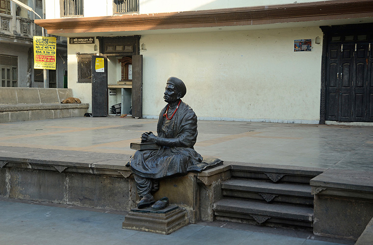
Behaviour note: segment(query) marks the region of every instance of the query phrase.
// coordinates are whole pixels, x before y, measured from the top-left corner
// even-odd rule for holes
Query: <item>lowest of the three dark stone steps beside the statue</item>
[[[310,228],[314,211],[310,207],[255,200],[223,198],[213,204],[216,220],[277,227]]]

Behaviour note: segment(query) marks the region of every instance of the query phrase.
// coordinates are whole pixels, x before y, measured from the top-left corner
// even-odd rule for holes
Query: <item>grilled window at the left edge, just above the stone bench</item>
[[[18,87],[18,57],[0,55],[1,87]]]

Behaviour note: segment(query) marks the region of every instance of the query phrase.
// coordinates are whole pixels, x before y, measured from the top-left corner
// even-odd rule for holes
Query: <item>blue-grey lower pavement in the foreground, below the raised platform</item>
[[[307,232],[277,229],[277,234],[273,234],[243,224],[240,225],[244,229],[216,227],[216,223],[210,223],[215,226],[189,224],[170,235],[159,235],[122,229],[124,215],[21,203],[6,198],[0,199],[0,210],[0,245],[353,244],[351,241],[325,241],[326,238],[315,238]]]

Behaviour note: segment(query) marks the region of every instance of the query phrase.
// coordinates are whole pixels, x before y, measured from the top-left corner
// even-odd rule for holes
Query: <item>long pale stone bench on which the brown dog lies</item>
[[[61,104],[71,89],[0,88],[0,123],[82,117],[89,104]]]

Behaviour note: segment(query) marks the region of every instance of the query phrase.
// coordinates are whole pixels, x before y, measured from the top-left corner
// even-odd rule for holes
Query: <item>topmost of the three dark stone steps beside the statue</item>
[[[309,184],[310,180],[326,169],[266,164],[235,164],[232,177],[271,180],[272,182],[294,182]]]

